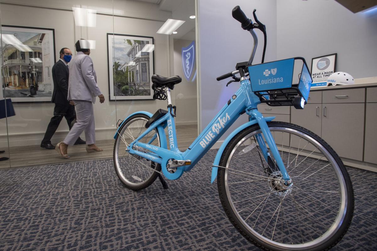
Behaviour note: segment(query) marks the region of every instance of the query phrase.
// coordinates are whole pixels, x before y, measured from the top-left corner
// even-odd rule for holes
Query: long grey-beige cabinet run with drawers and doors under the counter
[[[377,165],[377,87],[313,88],[309,97],[303,110],[291,106],[288,112],[288,107],[265,104],[258,109],[264,116],[276,116],[276,121],[291,122],[314,132],[347,165],[374,170]],[[276,141],[278,145],[280,141],[287,142],[286,139]],[[290,143],[292,147],[299,146],[298,141]]]

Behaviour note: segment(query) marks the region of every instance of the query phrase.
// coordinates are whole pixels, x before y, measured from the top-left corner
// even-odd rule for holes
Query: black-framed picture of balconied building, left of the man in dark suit
[[[51,101],[54,29],[2,25],[3,95],[12,102]]]

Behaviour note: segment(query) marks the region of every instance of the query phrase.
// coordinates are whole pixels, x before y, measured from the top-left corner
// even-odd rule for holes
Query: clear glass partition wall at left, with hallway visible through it
[[[0,161],[0,168],[112,158],[118,120],[138,110],[166,109],[166,101],[153,100],[153,74],[182,77],[172,101],[177,129],[191,141],[197,135],[195,18],[190,18],[195,0],[176,2],[1,0],[0,109],[5,115],[0,113],[0,151],[5,152],[0,158],[9,159]],[[167,20],[181,20],[175,34],[158,33]],[[67,63],[60,54],[63,48],[75,58],[80,39],[81,48],[90,49],[105,98],[101,104],[97,97],[93,104],[96,145],[103,151],[87,153],[85,145],[72,145],[70,158],[62,159],[46,148],[63,141],[74,121],[51,102],[63,88],[54,85],[52,67]],[[80,137],[85,140],[84,133]]]

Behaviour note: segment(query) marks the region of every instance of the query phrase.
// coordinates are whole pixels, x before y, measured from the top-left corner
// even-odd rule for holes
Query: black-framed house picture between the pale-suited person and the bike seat
[[[153,37],[107,33],[110,100],[153,99]]]

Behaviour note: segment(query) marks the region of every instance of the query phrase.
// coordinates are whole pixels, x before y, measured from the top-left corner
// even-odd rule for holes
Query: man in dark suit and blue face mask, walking
[[[76,118],[75,106],[72,102],[67,100],[68,96],[68,64],[72,58],[72,52],[68,48],[60,50],[60,59],[52,67],[52,80],[54,81],[54,92],[52,93],[52,103],[55,103],[54,116],[51,118],[47,126],[46,133],[41,142],[41,147],[46,149],[55,149],[51,144],[52,135],[58,129],[63,116],[67,120],[69,130],[72,128],[72,121]],[[75,145],[85,144],[85,141],[80,137],[75,142]]]

